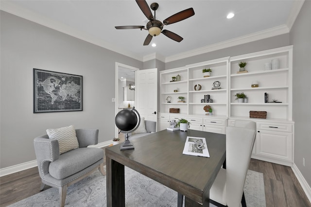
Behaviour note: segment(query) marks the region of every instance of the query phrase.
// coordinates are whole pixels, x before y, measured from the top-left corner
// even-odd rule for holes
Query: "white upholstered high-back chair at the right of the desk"
[[[227,127],[226,169],[220,169],[209,190],[210,203],[218,207],[246,207],[242,196],[255,137],[254,121],[235,121],[235,126]],[[182,206],[182,200],[183,196],[178,194],[178,206]]]

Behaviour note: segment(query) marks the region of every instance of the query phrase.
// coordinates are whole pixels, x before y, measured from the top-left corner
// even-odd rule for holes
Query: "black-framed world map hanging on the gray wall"
[[[82,111],[82,76],[34,69],[34,113]]]

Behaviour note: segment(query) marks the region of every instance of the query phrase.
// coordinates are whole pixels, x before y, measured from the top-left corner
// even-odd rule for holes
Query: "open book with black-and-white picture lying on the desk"
[[[209,157],[206,139],[198,137],[187,137],[183,154]]]

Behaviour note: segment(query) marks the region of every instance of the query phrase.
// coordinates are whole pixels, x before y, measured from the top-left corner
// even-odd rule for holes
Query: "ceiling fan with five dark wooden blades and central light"
[[[146,27],[145,26],[116,26],[116,29],[140,29],[140,30],[148,30],[149,34],[147,35],[145,41],[144,41],[144,45],[149,45],[149,43],[152,40],[153,36],[157,36],[160,35],[160,33],[162,33],[163,35],[177,41],[180,42],[181,40],[183,40],[184,38],[182,38],[181,36],[168,31],[168,30],[162,30],[164,25],[169,25],[169,24],[173,24],[176,23],[178,21],[184,20],[186,18],[192,17],[194,15],[194,11],[193,8],[189,8],[186,10],[183,10],[181,12],[178,12],[174,15],[172,15],[171,17],[166,18],[163,23],[159,20],[155,19],[155,16],[152,15],[151,10],[149,9],[149,6],[146,2],[146,0],[136,0],[139,8],[141,9],[142,13],[144,13],[144,15],[149,19],[149,22],[147,23]],[[159,7],[158,3],[152,3],[150,5],[150,8],[153,11],[156,11],[157,8]]]

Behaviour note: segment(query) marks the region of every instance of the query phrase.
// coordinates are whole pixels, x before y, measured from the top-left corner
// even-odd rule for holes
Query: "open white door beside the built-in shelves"
[[[140,117],[157,122],[157,69],[136,71],[135,90]]]

